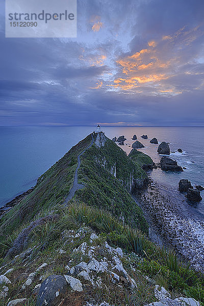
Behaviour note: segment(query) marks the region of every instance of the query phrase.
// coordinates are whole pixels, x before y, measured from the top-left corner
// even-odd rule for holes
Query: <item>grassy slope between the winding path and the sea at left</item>
[[[73,183],[73,174],[78,164],[77,156],[91,140],[91,135],[88,135],[39,177],[34,190],[0,220],[1,236],[12,234],[23,223],[31,221],[41,209],[63,201]]]

